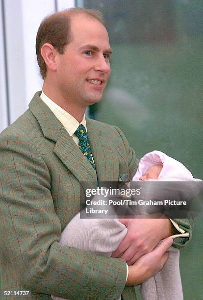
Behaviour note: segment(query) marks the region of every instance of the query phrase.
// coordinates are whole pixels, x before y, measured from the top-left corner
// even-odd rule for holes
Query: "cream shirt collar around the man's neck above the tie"
[[[61,124],[68,131],[70,136],[72,136],[78,126],[81,124],[87,130],[85,115],[83,116],[82,121],[79,123],[71,114],[69,114],[66,110],[56,104],[53,100],[51,100],[43,91],[40,95],[40,98],[47,104],[47,106],[51,109],[52,113],[56,116],[56,118],[61,122]]]

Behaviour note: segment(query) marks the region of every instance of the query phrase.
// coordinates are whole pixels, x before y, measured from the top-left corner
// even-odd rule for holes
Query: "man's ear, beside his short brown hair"
[[[41,48],[41,55],[44,58],[47,69],[51,71],[56,71],[56,53],[55,48],[49,43],[45,43]]]

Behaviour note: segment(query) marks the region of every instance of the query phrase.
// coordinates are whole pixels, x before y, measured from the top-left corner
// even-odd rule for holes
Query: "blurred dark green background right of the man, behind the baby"
[[[161,150],[203,179],[203,1],[83,2],[103,12],[113,49],[96,119],[119,126],[138,158]],[[203,299],[202,228],[200,214],[180,254],[185,300]]]

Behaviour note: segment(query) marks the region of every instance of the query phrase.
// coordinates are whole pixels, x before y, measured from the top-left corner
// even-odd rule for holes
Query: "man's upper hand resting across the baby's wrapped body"
[[[127,226],[127,235],[111,256],[125,259],[128,265],[152,251],[161,240],[174,234],[175,227],[160,213],[150,215],[149,218],[137,217],[119,221]]]

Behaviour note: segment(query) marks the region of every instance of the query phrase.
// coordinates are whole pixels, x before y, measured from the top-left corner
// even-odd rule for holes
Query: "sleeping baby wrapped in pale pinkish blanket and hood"
[[[149,180],[194,180],[192,174],[177,160],[160,151],[152,151],[143,156],[132,181]],[[97,197],[97,196],[95,196]],[[94,198],[95,199],[95,198]],[[112,209],[112,215],[115,211]],[[171,220],[181,234],[188,237],[183,229]],[[127,228],[118,219],[80,219],[78,213],[62,232],[59,243],[99,255],[111,256],[127,234]],[[182,286],[179,273],[179,251],[171,247],[169,259],[155,276],[138,286],[143,299],[182,300]],[[52,299],[60,298],[52,296]]]

